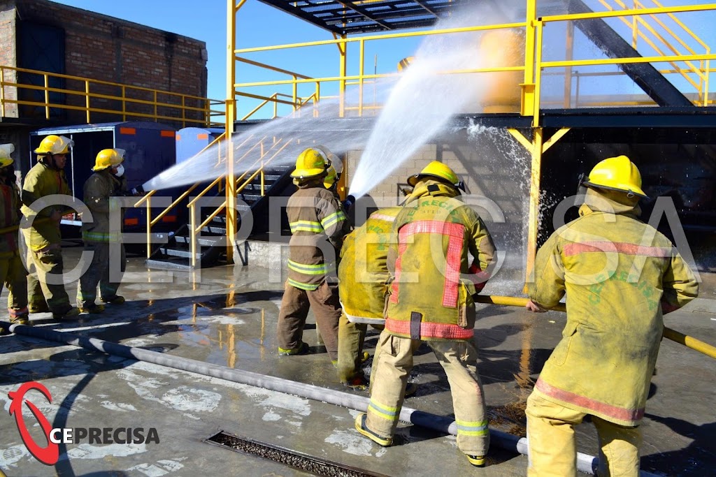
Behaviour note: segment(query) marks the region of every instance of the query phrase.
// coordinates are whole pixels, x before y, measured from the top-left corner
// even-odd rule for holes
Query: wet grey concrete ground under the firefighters
[[[72,264],[80,249],[66,250]],[[85,315],[77,323],[54,323],[49,314],[32,320],[37,327],[346,391],[313,329],[304,334],[313,353],[276,355],[282,285],[274,275],[259,267],[217,267],[202,270],[193,285],[186,273],[173,272],[170,278],[166,272],[147,272],[143,259],[133,257],[120,288],[125,305],[108,305],[102,315]],[[668,315],[666,323],[716,344],[716,277],[702,278],[701,297]],[[495,294],[503,293],[497,283],[490,285]],[[68,290],[74,297],[74,285]],[[490,426],[523,436],[525,400],[565,317],[492,305],[482,306],[478,316]],[[314,328],[312,317],[308,328]],[[371,353],[376,340],[377,333],[369,332]],[[405,405],[451,415],[448,383],[435,357],[423,347],[415,361],[411,380],[420,387]],[[715,374],[712,358],[664,340],[643,425],[643,470],[713,473]],[[9,414],[8,393],[30,381],[42,383],[52,395],[52,403],[36,390],[25,396],[52,428],[143,428],[145,438],[154,428],[160,442],[60,444],[59,460],[46,466],[29,453]],[[493,446],[490,465],[473,468],[453,436],[404,424],[399,445],[381,448],[354,431],[355,410],[22,335],[0,337],[0,400],[0,469],[7,476],[308,475],[205,443],[218,431],[389,476],[523,476],[527,466],[525,456]],[[44,446],[42,429],[26,406],[23,415],[29,433]],[[579,451],[596,455],[593,426],[579,426],[578,432]]]

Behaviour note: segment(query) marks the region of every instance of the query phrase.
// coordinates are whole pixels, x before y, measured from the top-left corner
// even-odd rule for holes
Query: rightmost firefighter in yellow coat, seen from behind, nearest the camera
[[[596,164],[580,217],[539,250],[528,309],[566,293],[562,340],[527,401],[529,476],[574,476],[574,426],[599,434],[599,475],[638,476],[639,423],[662,339],[662,314],[698,293],[669,240],[637,219],[642,179],[626,156]]]

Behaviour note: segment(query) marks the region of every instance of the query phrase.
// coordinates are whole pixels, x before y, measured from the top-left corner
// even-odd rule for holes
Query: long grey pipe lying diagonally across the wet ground
[[[67,345],[79,346],[87,350],[99,350],[108,355],[121,356],[130,360],[145,361],[156,365],[167,366],[179,370],[189,371],[200,375],[211,376],[231,381],[233,383],[241,383],[255,386],[256,388],[264,388],[308,398],[312,400],[322,401],[324,403],[340,405],[344,408],[367,412],[369,398],[364,396],[344,393],[342,391],[332,390],[329,388],[321,388],[311,384],[296,383],[283,378],[275,378],[251,371],[243,371],[226,366],[214,365],[211,363],[203,363],[202,361],[181,358],[180,356],[165,355],[156,351],[143,350],[142,348],[132,348],[111,341],[99,340],[97,338],[87,338],[84,336],[74,335],[72,333],[64,333],[55,330],[47,330],[46,328],[33,328],[26,325],[11,325],[4,321],[0,321],[0,327],[10,330],[16,335],[30,336],[32,338],[42,338],[44,340],[54,341],[57,343],[65,343]],[[402,407],[400,410],[400,421],[412,423],[415,426],[432,429],[442,433],[458,435],[458,428],[455,421],[441,415],[425,413],[422,410]],[[503,433],[490,429],[490,443],[511,451],[527,455],[527,439],[513,436],[512,434]],[[596,473],[599,459],[589,454],[577,453],[577,470],[594,475]],[[641,477],[657,477],[655,474],[641,471]]]

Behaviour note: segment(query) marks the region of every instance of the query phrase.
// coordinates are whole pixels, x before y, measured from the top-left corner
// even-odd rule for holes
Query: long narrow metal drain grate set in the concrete
[[[327,461],[319,457],[274,446],[273,444],[253,441],[244,437],[219,431],[205,439],[205,442],[215,446],[231,448],[236,452],[257,456],[269,461],[278,462],[291,468],[326,477],[388,477],[382,473],[374,473],[361,468],[344,466],[343,464]]]

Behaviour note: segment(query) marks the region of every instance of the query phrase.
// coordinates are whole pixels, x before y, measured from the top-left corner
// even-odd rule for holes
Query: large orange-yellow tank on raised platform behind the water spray
[[[521,29],[487,31],[480,39],[479,49],[485,68],[521,67],[525,64],[525,33]],[[489,75],[489,81],[483,93],[484,112],[519,112],[524,72],[485,74]]]

